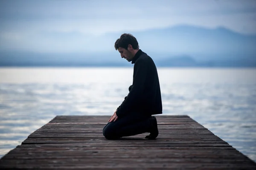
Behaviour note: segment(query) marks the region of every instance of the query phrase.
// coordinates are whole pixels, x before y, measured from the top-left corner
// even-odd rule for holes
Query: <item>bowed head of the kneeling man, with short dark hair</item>
[[[139,44],[132,34],[122,34],[115,42],[115,48],[119,51],[122,58],[130,62],[137,51],[139,51]]]

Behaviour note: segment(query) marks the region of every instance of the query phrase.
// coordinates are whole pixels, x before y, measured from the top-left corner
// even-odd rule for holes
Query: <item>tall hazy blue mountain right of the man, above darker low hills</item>
[[[175,26],[134,33],[143,49],[171,55],[187,54],[197,60],[256,57],[256,35],[244,35],[226,28],[207,29]]]

